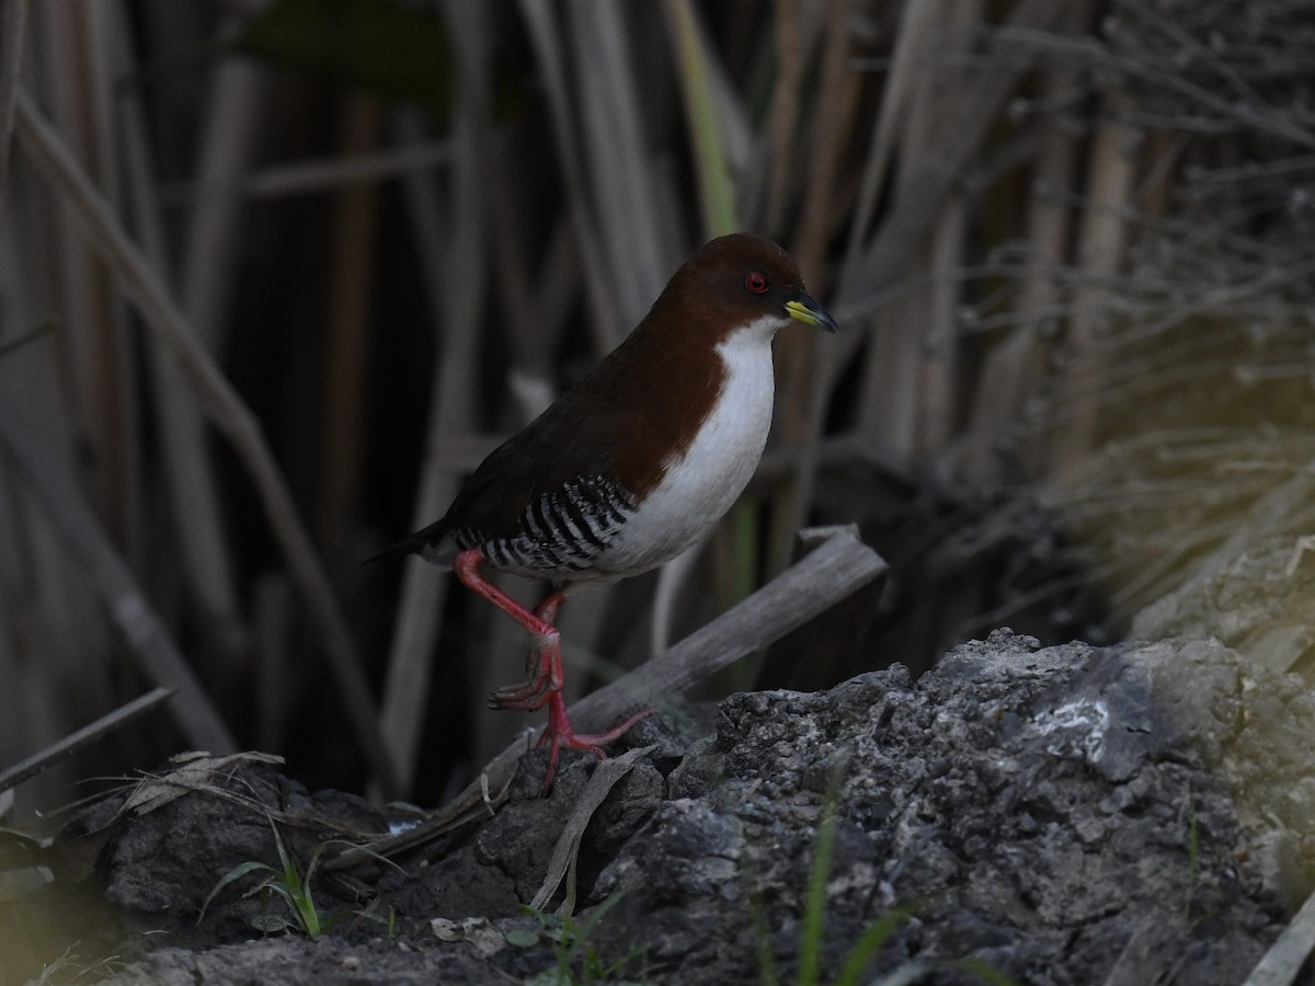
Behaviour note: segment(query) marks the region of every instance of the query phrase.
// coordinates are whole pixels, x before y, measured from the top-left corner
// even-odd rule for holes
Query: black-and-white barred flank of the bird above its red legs
[[[533,498],[512,538],[490,539],[471,527],[458,527],[452,536],[463,550],[483,551],[497,568],[584,572],[634,510],[635,500],[622,486],[602,476],[580,476]]]

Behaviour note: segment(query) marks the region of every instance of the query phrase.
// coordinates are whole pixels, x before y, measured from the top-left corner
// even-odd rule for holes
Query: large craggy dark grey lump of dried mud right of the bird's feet
[[[1240,982],[1281,918],[1277,887],[1235,855],[1247,840],[1220,776],[1247,732],[1236,656],[1206,642],[1027,644],[968,644],[917,685],[896,668],[823,694],[726,699],[717,740],[672,778],[681,798],[604,872],[597,893],[622,895],[609,927],[650,929],[651,960],[693,957],[673,981],[707,983],[757,978],[752,940],[767,933],[789,981],[830,802],[832,974],[905,906],[881,969],[976,957],[1020,982],[1115,968],[1153,982],[1169,966]]]

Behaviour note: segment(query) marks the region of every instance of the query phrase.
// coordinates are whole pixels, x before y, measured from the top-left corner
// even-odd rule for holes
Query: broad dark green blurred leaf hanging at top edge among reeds
[[[442,22],[391,0],[276,0],[247,22],[234,47],[437,116],[447,110],[451,72]]]

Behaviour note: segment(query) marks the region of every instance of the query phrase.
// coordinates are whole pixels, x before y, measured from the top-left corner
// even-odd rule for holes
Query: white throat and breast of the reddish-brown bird
[[[782,323],[763,318],[718,344],[726,371],[721,397],[590,575],[636,575],[669,561],[711,532],[744,492],[772,426],[772,337]]]

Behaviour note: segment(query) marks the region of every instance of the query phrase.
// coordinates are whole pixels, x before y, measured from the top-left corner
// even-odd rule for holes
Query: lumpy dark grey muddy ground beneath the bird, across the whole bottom
[[[652,716],[547,797],[530,752],[477,818],[337,869],[402,812],[195,756],[45,851],[0,982],[1239,983],[1312,885],[1312,726],[1214,640],[997,631],[917,682],[732,695],[693,739]],[[316,937],[249,865],[281,869],[276,832],[317,860]]]

